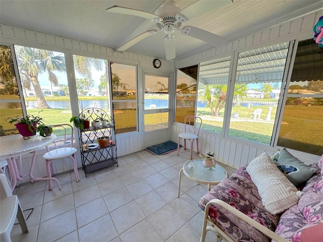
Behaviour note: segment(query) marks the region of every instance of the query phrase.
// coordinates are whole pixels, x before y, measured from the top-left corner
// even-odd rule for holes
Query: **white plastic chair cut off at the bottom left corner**
[[[5,174],[0,173],[0,241],[11,242],[10,232],[18,219],[23,233],[28,233],[28,227],[17,195],[12,195]]]

